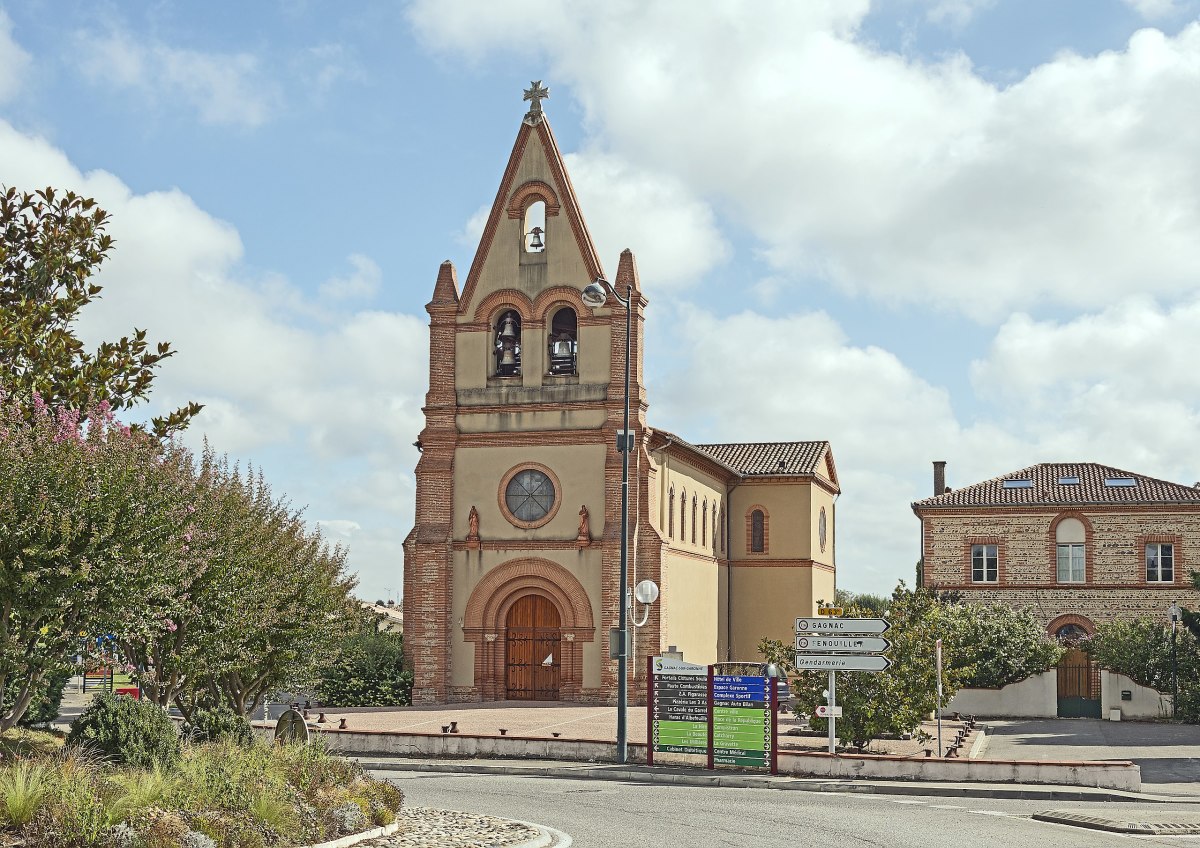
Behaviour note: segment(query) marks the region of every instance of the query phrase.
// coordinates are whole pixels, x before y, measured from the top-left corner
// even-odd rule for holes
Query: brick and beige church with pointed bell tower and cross
[[[430,389],[404,541],[415,704],[616,702],[626,349],[628,585],[660,588],[632,602],[634,699],[646,657],[676,646],[697,663],[760,660],[762,637],[790,642],[797,617],[834,599],[828,441],[700,445],[647,423],[649,301],[630,251],[605,273],[547,96],[540,83],[526,91],[464,284],[443,263],[426,306]],[[596,307],[582,297],[593,281],[607,297]]]

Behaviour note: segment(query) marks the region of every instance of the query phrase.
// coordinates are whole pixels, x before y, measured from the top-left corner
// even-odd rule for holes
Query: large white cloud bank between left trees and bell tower
[[[80,173],[4,121],[0,162],[17,187],[74,190],[110,213],[116,246],[80,332],[95,343],[136,325],[152,343],[172,343],[176,353],[156,372],[143,414],[204,403],[187,444],[198,447],[206,435],[217,451],[262,468],[311,516],[337,516],[324,525],[331,536],[353,535],[350,567],[373,584],[398,582],[413,509],[410,443],[422,426],[425,321],[331,314],[277,276],[246,278],[238,231],[186,194],[137,194],[112,174]],[[352,265],[371,276],[373,264],[359,259]],[[311,320],[317,313],[323,320]]]

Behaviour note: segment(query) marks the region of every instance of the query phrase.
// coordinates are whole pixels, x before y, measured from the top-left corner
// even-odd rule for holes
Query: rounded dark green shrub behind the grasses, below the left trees
[[[71,724],[68,746],[82,746],[115,763],[149,769],[179,758],[179,733],[161,706],[124,694],[97,694]]]

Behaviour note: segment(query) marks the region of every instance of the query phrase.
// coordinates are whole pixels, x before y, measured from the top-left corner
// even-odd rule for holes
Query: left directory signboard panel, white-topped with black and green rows
[[[708,667],[654,657],[649,742],[658,753],[708,753]]]

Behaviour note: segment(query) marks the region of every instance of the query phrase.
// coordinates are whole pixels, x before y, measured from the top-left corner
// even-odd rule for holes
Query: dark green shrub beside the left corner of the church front
[[[401,633],[359,631],[347,636],[320,672],[317,697],[325,706],[408,706],[413,673],[404,668]]]

